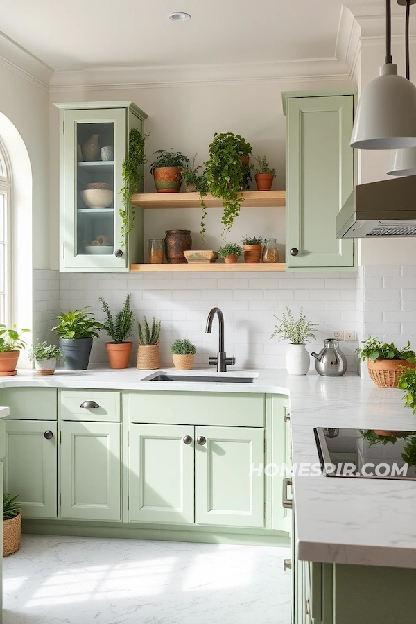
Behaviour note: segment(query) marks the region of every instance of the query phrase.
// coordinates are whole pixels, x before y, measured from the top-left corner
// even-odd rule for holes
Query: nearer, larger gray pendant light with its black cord
[[[392,62],[390,0],[385,2],[385,23],[385,64],[379,78],[364,87],[352,129],[350,145],[360,150],[416,147],[416,87],[397,75]]]

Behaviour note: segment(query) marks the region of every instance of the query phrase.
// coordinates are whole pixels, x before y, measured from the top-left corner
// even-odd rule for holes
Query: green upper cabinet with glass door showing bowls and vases
[[[136,209],[128,243],[121,236],[122,164],[132,128],[147,115],[132,102],[58,103],[60,109],[60,270],[127,272],[143,255]],[[139,192],[143,189],[139,189]]]

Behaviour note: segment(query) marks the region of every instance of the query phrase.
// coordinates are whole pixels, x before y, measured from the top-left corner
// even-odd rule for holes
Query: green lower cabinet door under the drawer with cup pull
[[[120,424],[62,422],[61,516],[121,519]]]

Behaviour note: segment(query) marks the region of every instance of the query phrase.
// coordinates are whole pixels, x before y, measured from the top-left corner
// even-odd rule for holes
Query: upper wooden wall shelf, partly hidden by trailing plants
[[[277,208],[286,205],[286,191],[245,191],[243,207]],[[211,196],[204,198],[207,208],[221,208],[220,199]],[[132,195],[132,204],[142,208],[200,208],[199,193],[137,193]]]

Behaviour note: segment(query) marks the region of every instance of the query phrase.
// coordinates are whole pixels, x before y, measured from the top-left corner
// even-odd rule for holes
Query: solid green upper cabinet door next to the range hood
[[[288,98],[288,268],[354,267],[354,241],[336,239],[336,215],[354,188],[353,101],[352,95]]]

